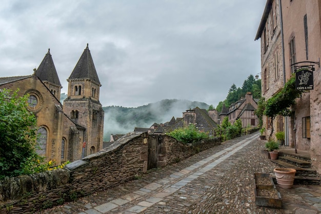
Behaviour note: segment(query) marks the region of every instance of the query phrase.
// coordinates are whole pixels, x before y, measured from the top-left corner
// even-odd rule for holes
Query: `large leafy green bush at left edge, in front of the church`
[[[30,157],[37,157],[36,117],[27,110],[28,94],[0,90],[0,179],[18,176]]]

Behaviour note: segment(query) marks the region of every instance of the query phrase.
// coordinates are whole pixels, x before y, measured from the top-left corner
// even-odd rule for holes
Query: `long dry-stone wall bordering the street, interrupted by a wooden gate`
[[[192,146],[167,135],[163,137],[157,145],[158,167],[220,144],[219,139],[215,139]],[[0,181],[0,213],[34,213],[133,180],[146,171],[147,139],[147,132],[130,132],[64,169]]]

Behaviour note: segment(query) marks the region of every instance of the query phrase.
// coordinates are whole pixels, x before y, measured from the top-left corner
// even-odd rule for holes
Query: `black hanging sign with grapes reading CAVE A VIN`
[[[313,71],[309,66],[299,67],[295,70],[296,90],[313,90]]]

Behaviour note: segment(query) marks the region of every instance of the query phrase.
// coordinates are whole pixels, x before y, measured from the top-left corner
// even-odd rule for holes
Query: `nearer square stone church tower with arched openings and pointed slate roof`
[[[87,44],[68,78],[68,97],[64,112],[74,123],[85,127],[84,142],[79,142],[83,157],[103,148],[104,110],[99,102],[102,86]]]

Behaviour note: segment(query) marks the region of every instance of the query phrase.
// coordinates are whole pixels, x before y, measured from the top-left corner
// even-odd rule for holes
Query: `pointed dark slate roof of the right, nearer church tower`
[[[98,75],[96,72],[96,68],[94,62],[92,60],[90,50],[88,48],[88,44],[80,59],[78,60],[75,68],[69,76],[69,79],[91,79],[92,81],[100,84],[98,79]]]

